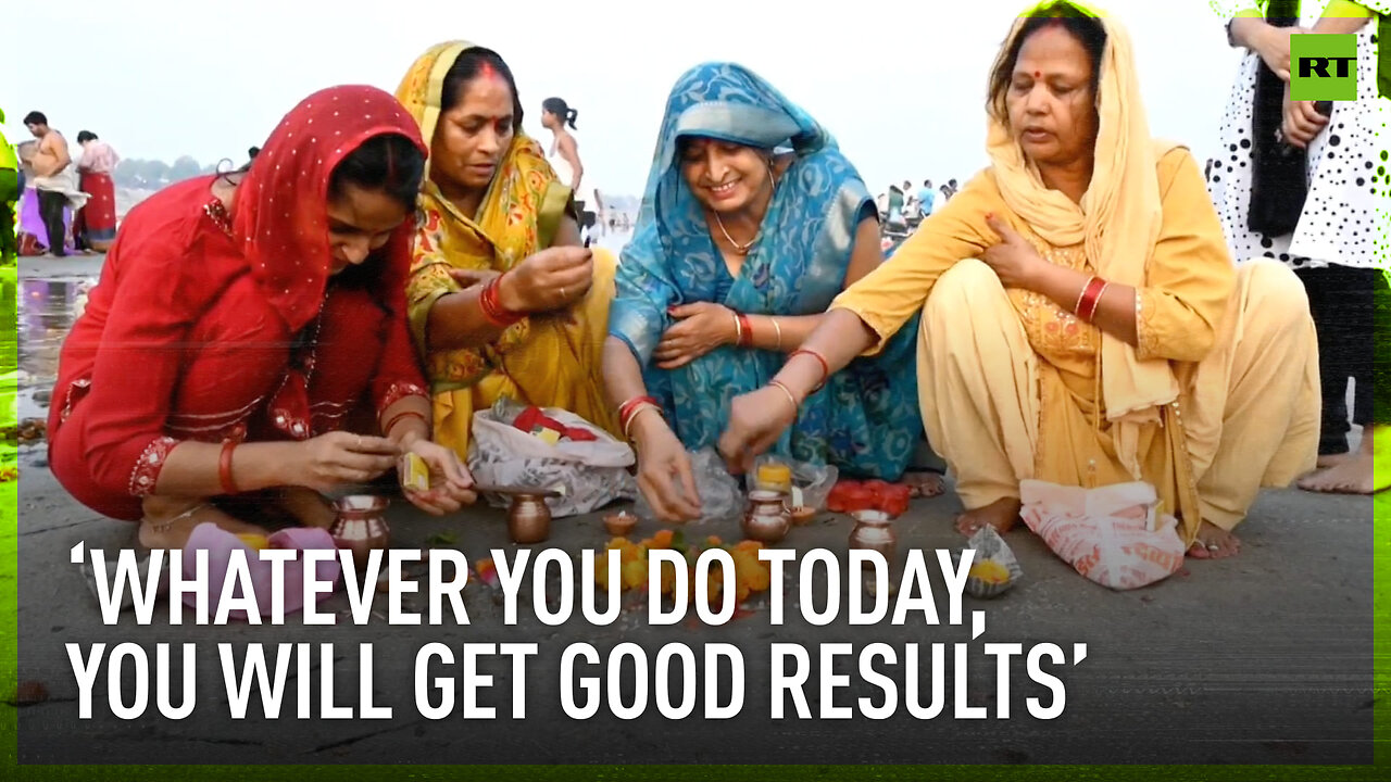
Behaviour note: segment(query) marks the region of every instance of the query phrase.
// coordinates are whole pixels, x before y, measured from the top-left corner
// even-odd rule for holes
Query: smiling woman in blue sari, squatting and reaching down
[[[715,445],[739,394],[766,384],[844,287],[879,263],[878,214],[835,139],[730,63],[687,71],[666,102],[618,270],[604,377],[665,520],[696,519],[687,451]],[[915,330],[825,378],[772,445],[842,473],[897,480],[922,437]]]

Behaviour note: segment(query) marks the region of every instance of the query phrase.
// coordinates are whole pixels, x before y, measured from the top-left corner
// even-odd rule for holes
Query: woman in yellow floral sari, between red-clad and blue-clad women
[[[396,97],[430,143],[406,296],[437,441],[466,455],[473,413],[499,397],[618,433],[600,381],[615,262],[580,246],[506,63],[441,43]]]

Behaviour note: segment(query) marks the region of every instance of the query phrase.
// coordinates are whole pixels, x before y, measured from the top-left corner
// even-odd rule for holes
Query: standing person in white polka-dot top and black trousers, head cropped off
[[[1387,99],[1377,95],[1377,26],[1391,11],[1385,0],[1271,0],[1264,13],[1232,1],[1228,42],[1245,47],[1223,118],[1224,154],[1209,173],[1207,191],[1221,217],[1234,260],[1276,259],[1303,281],[1319,333],[1323,416],[1317,472],[1298,486],[1308,491],[1372,494],[1372,431],[1391,423],[1376,415],[1373,334],[1378,289],[1377,189],[1385,166],[1377,143]],[[1380,8],[1373,10],[1373,7]],[[1352,33],[1358,38],[1356,100],[1289,100],[1291,36]],[[1362,447],[1349,452],[1348,380],[1353,380],[1352,423]]]

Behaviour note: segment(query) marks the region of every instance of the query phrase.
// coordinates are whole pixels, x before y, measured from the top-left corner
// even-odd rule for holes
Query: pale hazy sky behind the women
[[[826,125],[879,192],[904,178],[964,181],[983,166],[986,70],[1024,7],[1018,0],[22,3],[6,14],[6,26],[19,31],[13,61],[21,67],[0,82],[0,106],[15,143],[29,138],[19,120],[38,109],[70,139],[90,129],[125,157],[192,154],[203,164],[220,157],[239,164],[310,92],[335,83],[394,92],[416,56],[462,38],[495,49],[512,67],[527,132],[542,132],[542,99],[566,99],[580,113],[588,184],[637,195],[672,82],[696,63],[736,60]],[[1199,160],[1210,156],[1239,60],[1221,19],[1202,0],[1103,7],[1131,31],[1153,134],[1188,143]],[[33,35],[40,29],[51,32]]]

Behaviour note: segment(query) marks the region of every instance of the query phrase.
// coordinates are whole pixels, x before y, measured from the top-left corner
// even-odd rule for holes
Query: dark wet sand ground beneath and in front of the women
[[[40,259],[21,270],[21,417],[43,415],[57,342],[79,306],[82,281],[99,259]],[[46,263],[45,263],[46,260]],[[67,323],[64,323],[67,320]],[[31,412],[25,412],[31,410]],[[1370,763],[1372,761],[1372,501],[1319,497],[1294,490],[1264,491],[1249,520],[1238,529],[1245,541],[1231,561],[1193,562],[1149,589],[1114,593],[1086,582],[1025,530],[1008,543],[1024,568],[1024,580],[996,601],[967,600],[967,609],[986,611],[986,632],[971,646],[968,705],[989,708],[988,719],[953,719],[954,683],[949,673],[942,717],[917,721],[900,707],[887,721],[798,721],[769,718],[768,646],[773,641],[872,641],[903,648],[907,643],[967,641],[960,628],[921,622],[815,628],[794,609],[796,589],[785,583],[789,623],[769,622],[768,598],[747,603],[750,615],[723,628],[680,623],[645,625],[644,598],[629,594],[626,611],[609,628],[583,621],[541,625],[529,608],[515,628],[504,625],[494,593],[470,584],[465,593],[470,626],[306,628],[292,618],[284,628],[171,626],[156,612],[152,626],[125,614],[118,626],[102,625],[95,598],[68,550],[131,544],[131,525],[103,519],[74,502],[46,469],[42,447],[21,452],[19,483],[19,679],[43,682],[49,700],[19,711],[21,763]],[[915,501],[897,522],[900,550],[960,548],[951,530],[960,511],[954,497]],[[469,509],[431,519],[399,502],[391,509],[394,544],[421,547],[437,533],[451,533],[470,561],[488,550],[508,552],[502,513]],[[844,554],[850,520],[825,516],[794,530],[785,545],[807,551],[825,547]],[[658,527],[644,522],[636,537]],[[687,530],[737,540],[733,520]],[[597,516],[556,520],[554,545],[579,554],[600,548],[608,536]],[[534,548],[540,552],[542,547]],[[773,584],[779,589],[779,584]],[[940,582],[933,583],[944,614]],[[523,589],[530,605],[530,587]],[[338,593],[328,611],[348,607]],[[423,608],[420,601],[416,605]],[[104,676],[99,680],[96,718],[78,721],[77,685],[64,648],[97,641],[198,641],[199,708],[184,721],[147,714],[138,721],[111,717]],[[586,640],[601,653],[620,641],[655,650],[666,641],[737,644],[747,667],[746,704],[729,721],[690,718],[680,724],[655,707],[634,721],[601,710],[574,721],[559,708],[558,658],[569,643]],[[357,701],[359,643],[376,648],[376,701],[395,707],[388,721],[263,719],[227,717],[227,693],[214,644],[241,648],[249,641],[335,643],[335,700]],[[442,641],[534,641],[541,654],[530,664],[527,719],[509,718],[509,664],[485,661],[495,673],[483,703],[499,707],[494,721],[455,714],[428,721],[413,707],[413,660],[423,644]],[[981,650],[988,641],[1018,641],[1028,648],[1053,641],[1064,648],[1088,644],[1084,664],[1054,671],[1067,686],[1063,717],[1028,715],[1024,697],[1047,692],[1022,673],[1011,678],[1011,718],[995,718],[995,662]],[[152,654],[153,657],[153,654]],[[815,661],[815,650],[812,650]],[[851,658],[853,660],[853,658]],[[951,653],[947,651],[949,668]],[[924,665],[928,665],[926,662]],[[851,672],[853,665],[846,671]],[[437,668],[459,676],[459,668]],[[320,667],[316,664],[314,675]],[[597,671],[583,671],[595,673]],[[294,683],[294,673],[291,673]],[[627,687],[632,673],[626,675]],[[899,676],[901,682],[901,676]],[[858,680],[855,678],[854,680]],[[815,682],[815,676],[812,678]],[[858,687],[858,689],[857,689]],[[879,700],[862,686],[839,692],[837,705],[855,697]],[[294,687],[291,686],[291,690]],[[900,693],[901,694],[901,693]],[[807,690],[818,708],[815,685]],[[606,697],[606,696],[605,696]],[[924,700],[926,700],[924,694]],[[153,692],[152,692],[153,703]],[[287,711],[294,714],[294,697]],[[901,704],[901,700],[900,700]],[[3,708],[10,708],[4,705]],[[316,685],[317,708],[317,685]],[[700,714],[700,711],[697,711]],[[81,736],[81,739],[77,739]]]

